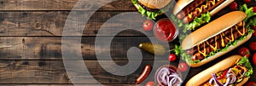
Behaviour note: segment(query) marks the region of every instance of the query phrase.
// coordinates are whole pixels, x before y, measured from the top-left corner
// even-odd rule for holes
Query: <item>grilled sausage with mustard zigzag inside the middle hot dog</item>
[[[234,42],[237,38],[244,36],[247,33],[245,22],[241,21],[236,26],[231,27],[225,32],[221,32],[215,37],[209,38],[206,42],[200,43],[192,49],[186,50],[187,54],[192,55],[191,60],[202,60],[207,54],[217,49],[225,48],[229,42]]]

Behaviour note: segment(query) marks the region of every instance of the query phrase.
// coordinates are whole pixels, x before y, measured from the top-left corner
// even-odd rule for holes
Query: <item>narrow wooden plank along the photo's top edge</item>
[[[126,0],[112,1],[114,2],[106,0],[1,0],[0,10],[136,10],[130,0],[127,0],[128,2]],[[77,3],[80,5],[74,8]]]

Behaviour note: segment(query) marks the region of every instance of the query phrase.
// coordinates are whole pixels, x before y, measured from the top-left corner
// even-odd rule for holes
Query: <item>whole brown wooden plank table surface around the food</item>
[[[96,78],[99,83],[105,85],[134,85],[136,78],[143,71],[146,65],[158,65],[154,63],[154,60],[158,62],[167,60],[165,56],[157,56],[154,59],[153,54],[148,54],[142,51],[143,62],[140,67],[133,73],[127,76],[117,76],[106,72],[99,65],[96,59],[95,39],[97,32],[101,26],[110,18],[115,15],[125,12],[137,12],[137,9],[132,5],[131,0],[117,0],[112,3],[107,3],[108,0],[96,0],[96,3],[91,3],[90,0],[85,0],[84,4],[90,3],[88,6],[102,6],[96,10],[96,13],[90,15],[84,14],[78,17],[90,17],[89,22],[84,26],[84,32],[81,41],[81,51],[83,55],[84,64],[88,67],[89,73]],[[237,0],[238,1],[238,0]],[[253,1],[253,0],[252,0]],[[86,6],[73,8],[79,0],[0,0],[0,85],[53,85],[53,86],[72,86],[71,82],[73,77],[67,75],[65,67],[63,65],[61,54],[61,37],[71,37],[69,42],[73,41],[73,38],[78,38],[79,31],[73,26],[73,31],[78,34],[62,35],[63,27],[65,26],[68,14],[71,10],[79,12],[91,12],[93,10],[86,9]],[[241,4],[241,2],[239,2]],[[249,3],[250,6],[256,6],[255,2]],[[222,10],[220,13],[226,13],[228,9]],[[219,16],[221,14],[217,14]],[[125,16],[125,15],[123,15]],[[141,15],[134,16],[140,20],[126,20],[113,21],[107,28],[125,28],[125,29],[138,29],[142,30],[144,17]],[[129,19],[129,18],[127,18]],[[75,20],[74,20],[75,21]],[[77,21],[79,22],[79,21]],[[129,23],[131,26],[123,25]],[[115,31],[106,31],[104,33],[112,33]],[[154,37],[152,32],[146,32],[149,37]],[[102,35],[101,37],[108,38],[109,36]],[[248,47],[248,43],[255,42],[256,37],[252,37],[247,43],[241,45],[241,47]],[[139,43],[149,42],[149,39],[143,32],[137,32],[134,30],[125,30],[120,32],[112,40],[110,46],[110,54],[112,59],[106,58],[101,61],[111,61],[120,66],[124,66],[129,62],[127,59],[127,51],[131,47],[137,47]],[[177,42],[170,43],[171,47]],[[62,45],[68,46],[68,45]],[[240,47],[239,47],[240,48]],[[107,52],[102,50],[102,53]],[[229,54],[225,54],[217,60],[208,63],[205,66],[190,68],[188,76],[185,78],[185,82],[193,77],[198,72],[206,69],[212,64],[217,63],[219,60],[223,60],[231,54],[236,54],[237,49],[231,51]],[[253,54],[253,52],[251,52]],[[252,55],[251,54],[251,55]],[[176,62],[171,62],[172,65],[177,66]],[[111,68],[112,66],[109,66]],[[115,69],[115,68],[113,68]],[[151,73],[154,73],[156,69],[153,69]],[[76,70],[73,70],[76,72]],[[256,66],[253,66],[253,71],[256,72]],[[79,76],[79,71],[77,72]],[[74,74],[76,75],[76,74]],[[80,76],[88,77],[88,76]],[[256,82],[256,73],[249,79]],[[82,80],[84,82],[80,85],[98,85],[98,83],[90,82],[90,80]],[[148,81],[154,81],[154,78],[148,78]]]

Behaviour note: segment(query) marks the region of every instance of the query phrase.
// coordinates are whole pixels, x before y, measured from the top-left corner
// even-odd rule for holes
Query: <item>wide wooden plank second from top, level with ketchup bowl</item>
[[[89,16],[87,12],[91,13],[75,11],[74,14],[78,15],[70,19],[67,19],[68,11],[0,12],[0,36],[68,36],[62,34],[65,24],[70,27],[65,32],[72,33],[69,36],[80,36],[79,28],[84,29],[83,36],[109,36],[114,33],[119,33],[119,36],[145,36],[142,25],[146,18],[140,14],[96,12]],[[88,23],[82,22],[85,18],[90,18]],[[79,23],[83,25],[78,26]],[[97,34],[100,29],[103,34]],[[117,31],[120,29],[123,32]],[[145,33],[153,36],[152,32]]]

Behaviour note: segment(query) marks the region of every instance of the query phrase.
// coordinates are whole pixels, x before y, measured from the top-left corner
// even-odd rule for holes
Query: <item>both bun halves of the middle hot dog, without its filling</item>
[[[200,29],[196,30],[195,32],[190,33],[188,37],[184,38],[183,43],[181,45],[182,49],[184,50],[191,49],[195,47],[197,44],[205,42],[207,39],[214,37],[221,32],[226,31],[232,26],[235,26],[238,22],[246,18],[246,16],[247,15],[241,11],[234,11],[234,12],[230,12],[229,14],[224,14],[223,16],[219,17],[217,20],[213,20],[206,26],[202,26]],[[211,32],[209,32],[209,29],[211,30]],[[204,35],[201,35],[201,34],[204,34]],[[227,50],[223,52],[218,52],[212,56],[209,56],[207,57],[207,59],[201,60],[198,63],[190,63],[188,60],[186,61],[188,65],[192,67],[204,65],[207,62],[214,60],[219,56],[230,52],[232,49],[236,49],[236,47],[240,46],[242,43],[247,42],[247,40],[249,40],[250,37],[252,37],[252,34],[247,35],[247,37],[244,40],[238,41],[235,46],[230,45]]]

